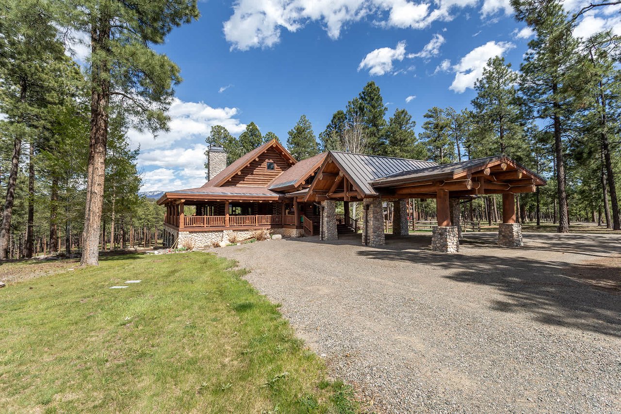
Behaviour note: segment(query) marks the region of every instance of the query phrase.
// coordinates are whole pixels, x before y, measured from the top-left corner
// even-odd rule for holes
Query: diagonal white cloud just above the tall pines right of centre
[[[502,56],[507,50],[514,47],[515,45],[510,42],[494,42],[491,40],[474,48],[453,67],[455,79],[449,89],[456,93],[463,93],[466,88],[473,88],[474,81],[483,74],[487,60],[495,56]]]

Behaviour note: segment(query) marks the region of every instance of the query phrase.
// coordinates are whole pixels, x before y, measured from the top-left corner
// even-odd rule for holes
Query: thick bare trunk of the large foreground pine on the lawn
[[[99,53],[110,39],[109,21],[102,17],[100,27],[91,29],[91,51]],[[86,214],[84,214],[83,266],[99,264],[99,230],[104,203],[104,178],[106,174],[106,146],[108,139],[108,104],[110,101],[109,63],[97,62],[93,68],[91,90],[91,132],[88,154],[88,181],[86,183]]]

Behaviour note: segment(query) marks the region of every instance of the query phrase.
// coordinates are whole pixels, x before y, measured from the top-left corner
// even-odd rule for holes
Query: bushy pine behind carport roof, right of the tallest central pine
[[[427,159],[427,150],[417,142],[416,122],[406,109],[395,109],[386,127],[386,151],[389,157]]]

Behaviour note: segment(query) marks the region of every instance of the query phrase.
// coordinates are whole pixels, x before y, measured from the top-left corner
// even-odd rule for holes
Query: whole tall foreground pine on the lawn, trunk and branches
[[[91,132],[81,265],[97,265],[109,108],[123,105],[140,128],[166,129],[164,113],[181,77],[175,63],[150,45],[163,43],[174,27],[197,19],[199,11],[196,0],[57,0],[54,4],[61,25],[90,34]]]

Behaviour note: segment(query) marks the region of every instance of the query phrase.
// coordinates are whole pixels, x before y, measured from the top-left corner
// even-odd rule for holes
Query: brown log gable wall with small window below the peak
[[[270,148],[253,159],[246,167],[242,168],[240,173],[235,174],[230,180],[222,186],[255,186],[265,187],[274,178],[278,177],[283,171],[288,170],[291,164],[288,160],[276,151]],[[274,170],[267,169],[267,163],[274,163]]]

